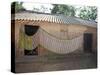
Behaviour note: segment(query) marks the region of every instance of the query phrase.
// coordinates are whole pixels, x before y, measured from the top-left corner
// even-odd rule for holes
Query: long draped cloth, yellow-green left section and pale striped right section
[[[24,49],[32,50],[38,47],[38,45],[41,45],[47,50],[58,54],[73,52],[82,47],[83,44],[83,35],[73,39],[60,39],[52,36],[52,34],[42,28],[39,28],[33,36],[27,36],[25,32],[21,30],[20,39],[20,47]]]

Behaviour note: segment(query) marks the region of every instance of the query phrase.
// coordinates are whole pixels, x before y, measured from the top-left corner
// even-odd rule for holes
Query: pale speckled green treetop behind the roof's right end
[[[96,7],[81,7],[79,17],[87,20],[95,20],[97,18],[97,8]]]

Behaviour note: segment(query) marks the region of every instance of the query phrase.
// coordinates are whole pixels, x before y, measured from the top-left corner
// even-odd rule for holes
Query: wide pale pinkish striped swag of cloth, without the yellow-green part
[[[83,36],[76,37],[72,40],[62,40],[59,38],[55,38],[52,35],[48,34],[43,29],[40,29],[40,45],[45,47],[46,49],[59,53],[59,54],[66,54],[73,52],[80,48],[83,43]]]

